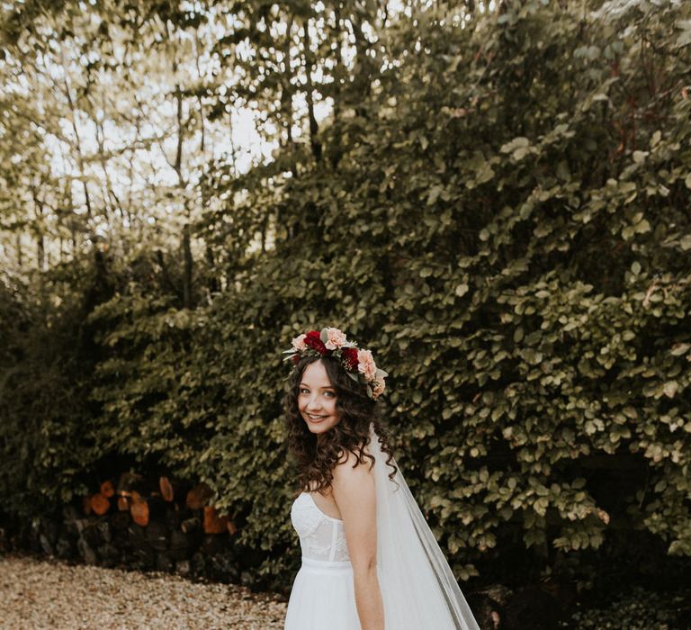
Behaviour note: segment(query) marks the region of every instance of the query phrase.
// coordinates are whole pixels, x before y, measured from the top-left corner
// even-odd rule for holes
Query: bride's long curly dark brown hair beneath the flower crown
[[[315,361],[321,361],[326,368],[328,380],[336,391],[336,410],[340,418],[334,428],[322,434],[319,442],[298,409],[302,373]],[[334,466],[346,452],[355,455],[357,464],[365,464],[365,458],[371,460],[372,468],[374,457],[364,452],[364,447],[370,443],[372,423],[380,437],[381,451],[388,455],[386,464],[393,469],[389,473],[389,478],[393,479],[398,468],[390,463],[393,455],[386,429],[378,417],[376,403],[367,396],[363,384],[356,383],[348,376],[336,358],[302,357],[292,372],[284,406],[288,449],[298,461],[298,492],[327,490],[334,478]]]

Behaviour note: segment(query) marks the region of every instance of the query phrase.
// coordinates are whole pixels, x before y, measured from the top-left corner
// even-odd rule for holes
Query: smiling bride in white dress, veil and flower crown
[[[387,374],[338,329],[292,340],[302,566],[285,630],[479,630],[376,418]]]

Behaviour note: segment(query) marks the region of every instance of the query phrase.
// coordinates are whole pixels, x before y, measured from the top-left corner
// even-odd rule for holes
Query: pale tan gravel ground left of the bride
[[[270,630],[286,605],[229,584],[170,573],[0,555],[2,630]]]

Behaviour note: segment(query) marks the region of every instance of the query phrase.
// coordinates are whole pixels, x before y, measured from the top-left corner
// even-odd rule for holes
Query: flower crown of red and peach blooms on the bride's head
[[[292,348],[284,350],[284,361],[297,364],[304,356],[334,356],[355,383],[365,386],[367,395],[376,401],[386,389],[384,379],[389,375],[374,365],[372,352],[348,341],[339,329],[310,330],[292,340]]]

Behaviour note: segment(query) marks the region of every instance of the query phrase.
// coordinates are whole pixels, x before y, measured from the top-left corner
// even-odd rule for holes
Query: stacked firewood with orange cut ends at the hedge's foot
[[[64,507],[62,518],[37,519],[29,544],[87,564],[237,581],[248,559],[237,557],[236,524],[209,505],[211,497],[204,483],[122,473],[116,485],[106,480],[81,505]]]

